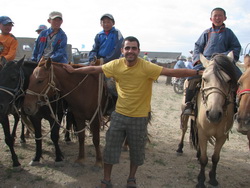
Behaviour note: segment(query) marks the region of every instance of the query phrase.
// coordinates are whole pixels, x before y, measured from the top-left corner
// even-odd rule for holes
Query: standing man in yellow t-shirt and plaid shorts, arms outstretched
[[[119,163],[122,144],[126,136],[130,152],[127,187],[136,187],[135,174],[138,166],[143,164],[145,157],[153,81],[160,75],[188,77],[202,73],[202,71],[191,69],[168,69],[138,57],[140,43],[135,37],[125,38],[121,51],[123,58],[101,66],[74,69],[70,65],[64,65],[64,68],[72,74],[103,72],[106,77],[113,77],[116,81],[118,100],[116,109],[111,115],[109,130],[106,133],[102,188],[112,187],[112,167]]]

